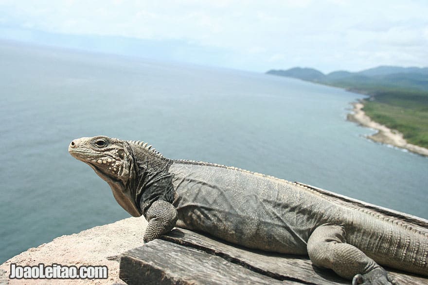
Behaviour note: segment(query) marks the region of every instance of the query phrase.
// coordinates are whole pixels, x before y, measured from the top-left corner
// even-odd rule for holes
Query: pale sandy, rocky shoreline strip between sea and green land
[[[394,147],[406,149],[408,151],[428,157],[428,149],[412,145],[407,142],[407,140],[403,137],[403,134],[400,132],[391,130],[384,125],[372,121],[372,119],[362,110],[364,107],[363,101],[353,102],[351,104],[354,106],[352,110],[353,113],[348,114],[347,119],[349,121],[356,122],[361,126],[377,130],[376,134],[368,135],[367,138],[375,142],[392,145]]]

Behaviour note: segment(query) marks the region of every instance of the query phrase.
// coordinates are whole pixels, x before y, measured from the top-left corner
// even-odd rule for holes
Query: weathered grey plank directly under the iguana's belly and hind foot
[[[340,278],[332,270],[313,266],[307,256],[250,250],[186,229],[175,229],[161,238],[179,245],[193,247],[221,256],[226,260],[250,268],[255,272],[280,280],[319,285],[350,284],[349,280]],[[428,285],[428,278],[395,269],[386,269],[399,284]]]

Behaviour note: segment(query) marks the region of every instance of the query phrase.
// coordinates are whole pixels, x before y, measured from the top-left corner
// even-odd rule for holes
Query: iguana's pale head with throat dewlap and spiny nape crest
[[[143,179],[139,174],[157,171],[163,158],[159,152],[143,142],[101,135],[74,139],[69,152],[87,163],[110,185],[114,198],[129,214],[142,215],[139,200],[143,189],[139,184]],[[136,160],[145,162],[143,171],[134,163]]]

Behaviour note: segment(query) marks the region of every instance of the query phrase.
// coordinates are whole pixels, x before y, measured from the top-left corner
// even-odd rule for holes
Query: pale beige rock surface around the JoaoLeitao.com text
[[[0,265],[0,285],[3,284],[124,284],[119,279],[120,254],[143,245],[143,233],[147,226],[144,218],[126,218],[98,226],[78,234],[63,235],[37,248],[31,248]],[[105,265],[107,279],[9,279],[10,264],[34,266],[39,263],[52,265]]]

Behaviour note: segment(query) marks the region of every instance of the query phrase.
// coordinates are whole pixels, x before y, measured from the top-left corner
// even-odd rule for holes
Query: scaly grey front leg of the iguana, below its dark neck
[[[147,210],[148,221],[143,241],[149,242],[171,231],[177,222],[177,209],[167,201],[154,201]]]

